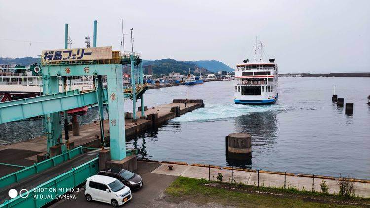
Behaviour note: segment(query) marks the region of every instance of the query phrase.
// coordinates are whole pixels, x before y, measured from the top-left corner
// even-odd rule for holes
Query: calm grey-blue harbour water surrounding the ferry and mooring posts
[[[154,160],[370,179],[369,78],[279,77],[279,100],[263,106],[233,104],[233,84],[220,81],[148,90],[148,107],[175,98],[203,99],[205,107],[127,139],[127,146]],[[353,116],[332,103],[334,85],[339,97],[354,103]],[[127,101],[125,111],[130,110]],[[96,109],[89,109],[79,119],[88,123],[97,118]],[[40,120],[0,128],[1,144],[42,134]],[[233,132],[252,135],[251,160],[226,159],[225,136]]]

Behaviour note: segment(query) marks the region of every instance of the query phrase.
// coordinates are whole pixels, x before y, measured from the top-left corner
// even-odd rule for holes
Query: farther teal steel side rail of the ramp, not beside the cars
[[[31,175],[40,173],[48,168],[61,164],[80,154],[83,154],[82,146],[74,148],[66,153],[57,155],[42,162],[35,163],[34,165],[19,170],[17,172],[5,175],[0,178],[0,188],[19,182],[24,178],[30,177]]]

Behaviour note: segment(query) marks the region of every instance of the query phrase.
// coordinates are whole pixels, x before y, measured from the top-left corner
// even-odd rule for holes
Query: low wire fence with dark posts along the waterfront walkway
[[[190,169],[183,176],[186,177],[186,174],[188,174],[190,177],[197,177],[196,175],[198,175],[198,178],[219,181],[218,175],[221,173],[222,182],[227,183],[311,192],[323,192],[323,190],[327,189],[329,194],[339,194],[340,181],[346,181],[348,184],[353,183],[355,196],[370,198],[370,180],[354,179],[346,176],[328,177],[314,174],[271,172],[202,164],[192,164]],[[192,175],[191,172],[197,174]],[[200,175],[201,177],[199,177]]]

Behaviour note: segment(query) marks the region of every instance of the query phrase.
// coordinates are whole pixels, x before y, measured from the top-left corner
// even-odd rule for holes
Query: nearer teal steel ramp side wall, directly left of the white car
[[[81,148],[82,149],[82,148]],[[39,208],[62,197],[74,187],[99,171],[99,158],[94,158],[72,170],[62,173],[41,185],[23,192],[16,198],[5,201],[0,208]],[[42,197],[41,197],[42,196]]]

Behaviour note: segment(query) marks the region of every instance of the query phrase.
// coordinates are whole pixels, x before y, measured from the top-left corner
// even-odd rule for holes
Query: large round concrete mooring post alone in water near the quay
[[[226,155],[232,159],[245,160],[252,157],[252,137],[247,133],[226,136]]]

